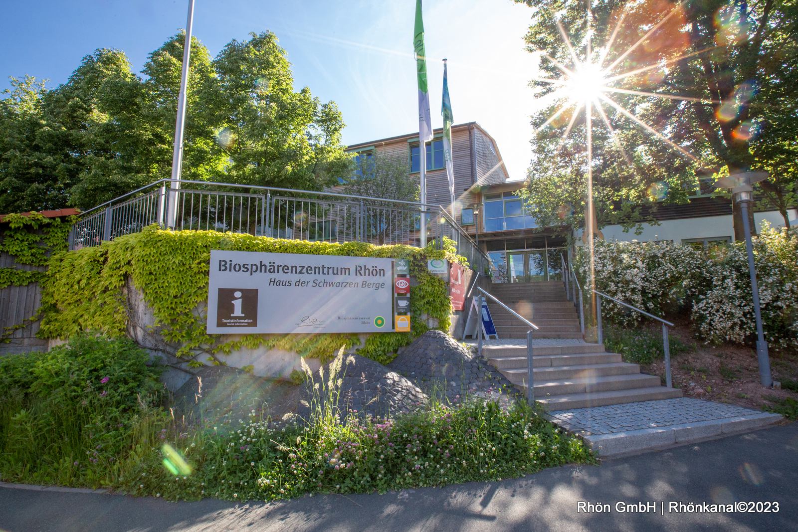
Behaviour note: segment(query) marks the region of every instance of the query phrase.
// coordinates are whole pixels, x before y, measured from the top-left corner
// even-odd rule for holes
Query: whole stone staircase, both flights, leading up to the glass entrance
[[[567,301],[563,283],[497,284],[492,294],[540,329],[534,338],[582,338],[579,315]],[[488,298],[488,301],[490,299]],[[496,303],[489,302],[500,339],[526,337],[528,325]],[[678,388],[666,388],[660,378],[643,375],[618,353],[606,353],[600,344],[539,340],[533,347],[535,400],[550,411],[635,403],[681,397]],[[527,393],[526,345],[484,345],[483,355],[524,394]]]

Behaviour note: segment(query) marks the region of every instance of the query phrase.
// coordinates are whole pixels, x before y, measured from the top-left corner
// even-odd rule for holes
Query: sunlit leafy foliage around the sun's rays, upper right
[[[525,37],[527,49],[543,50],[573,69],[575,60],[556,26],[559,20],[579,61],[584,61],[585,2],[516,2],[534,10]],[[712,191],[713,175],[749,170],[772,173],[760,185],[760,207],[778,208],[786,222],[786,208],[796,201],[798,175],[796,15],[795,3],[783,0],[592,2],[591,61],[602,61],[603,68],[615,64],[612,75],[632,73],[607,85],[638,92],[607,96],[678,147],[657,139],[611,104],[603,102],[602,110],[593,112],[591,164],[599,227],[650,221],[662,203],[681,203],[696,191]],[[547,59],[541,61],[541,71],[542,77],[563,77]],[[555,92],[557,85],[543,81],[531,85],[543,102],[532,122],[543,124],[567,96]],[[646,92],[687,98],[641,94]],[[571,124],[572,113],[573,109],[563,112],[532,140],[527,198],[539,206],[533,214],[543,223],[582,221],[585,120],[582,112]],[[606,121],[613,124],[612,132]],[[563,141],[567,124],[571,132]],[[740,226],[736,220],[736,230]]]

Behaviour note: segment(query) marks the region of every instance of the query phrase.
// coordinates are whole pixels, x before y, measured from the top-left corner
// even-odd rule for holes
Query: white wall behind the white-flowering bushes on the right
[[[789,219],[796,218],[796,210],[790,209],[788,215]],[[765,220],[770,223],[771,227],[784,227],[784,218],[779,211],[755,212],[753,219],[757,224],[757,232],[762,231],[762,222]],[[605,240],[615,238],[621,242],[673,240],[676,243],[681,243],[684,238],[731,237],[732,240],[734,239],[734,223],[731,215],[663,220],[658,226],[644,223],[642,227],[642,234],[634,234],[634,229],[624,233],[619,225],[604,227],[601,232]],[[582,245],[582,231],[578,233],[577,243],[579,246]]]

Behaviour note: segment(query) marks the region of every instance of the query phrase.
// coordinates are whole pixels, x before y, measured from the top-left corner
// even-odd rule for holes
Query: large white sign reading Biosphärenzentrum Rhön
[[[385,333],[393,259],[211,250],[208,333]]]

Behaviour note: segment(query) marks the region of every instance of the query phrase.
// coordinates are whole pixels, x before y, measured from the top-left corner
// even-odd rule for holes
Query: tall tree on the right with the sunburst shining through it
[[[587,5],[563,0],[553,4],[540,0],[516,1],[523,1],[535,9],[525,37],[528,49],[546,50],[562,65],[573,68],[571,54],[566,46],[560,44],[554,14],[570,32],[575,47],[583,50],[587,42]],[[626,93],[608,94],[620,107],[629,109],[642,122],[664,133],[677,150],[692,156],[675,158],[677,151],[670,149],[674,146],[667,147],[661,140],[643,132],[618,108],[604,103],[602,108],[606,108],[607,119],[615,129],[614,135],[606,138],[612,140],[616,148],[609,149],[606,140],[599,139],[595,145],[597,157],[614,157],[615,161],[623,162],[628,158],[631,164],[627,164],[627,168],[638,175],[638,183],[634,184],[632,191],[641,196],[655,186],[666,191],[663,199],[668,201],[683,200],[679,196],[683,196],[684,187],[694,189],[698,186],[697,181],[711,179],[721,171],[772,168],[776,170],[772,171],[773,177],[762,185],[764,195],[772,198],[772,203],[784,214],[784,207],[795,199],[790,192],[794,190],[795,171],[788,163],[791,157],[795,159],[796,154],[793,110],[798,37],[798,26],[794,23],[798,14],[796,9],[798,7],[793,3],[782,0],[734,4],[719,0],[692,0],[678,5],[662,0],[593,2],[590,22],[596,47],[591,61],[604,59],[605,67],[617,61],[613,74],[634,73],[606,84]],[[666,17],[665,24],[654,27]],[[652,33],[646,37],[650,30]],[[610,40],[613,42],[610,49],[602,47]],[[638,41],[639,45],[635,46]],[[626,53],[627,50],[630,52]],[[626,55],[622,55],[624,53]],[[543,61],[542,69],[544,76],[560,76],[552,61]],[[554,94],[551,85],[540,81],[533,82],[533,85],[539,88],[540,97]],[[646,94],[651,92],[686,99],[665,99]],[[543,123],[557,103],[551,101],[552,108],[547,109],[547,113],[534,116],[533,120]],[[598,112],[595,121],[604,121]],[[563,116],[552,125],[560,125],[562,129],[567,123],[568,116]],[[572,126],[579,144],[579,139],[584,139],[584,122],[576,120]],[[555,139],[559,134],[552,131],[542,133],[543,143],[535,150],[536,158],[542,160],[539,164],[558,156],[561,148]],[[620,148],[625,148],[626,156]],[[666,149],[663,151],[663,148]],[[661,179],[655,181],[641,171],[636,156],[639,151],[659,154],[654,160],[659,157],[664,164],[662,171],[668,178],[666,187],[657,185],[662,183]],[[631,156],[629,152],[632,152]],[[539,164],[536,166],[533,161],[533,170],[539,170]],[[598,169],[594,173],[599,191],[602,187],[613,190],[612,183],[623,180],[624,172],[617,164],[610,165],[611,168],[602,161],[594,160],[591,164]],[[584,170],[586,165],[583,158],[576,166]],[[538,179],[535,178],[533,180]],[[546,179],[550,178],[543,172],[542,180]],[[552,186],[556,187],[556,184]],[[535,187],[538,186],[533,185],[533,191]],[[633,199],[634,194],[618,197],[614,204]],[[737,238],[742,238],[737,206],[735,233]]]

